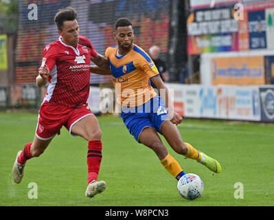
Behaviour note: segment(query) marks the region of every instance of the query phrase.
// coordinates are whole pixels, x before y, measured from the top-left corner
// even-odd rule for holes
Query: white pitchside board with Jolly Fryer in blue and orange
[[[200,97],[203,117],[260,120],[258,87],[218,86],[201,90],[203,90]]]

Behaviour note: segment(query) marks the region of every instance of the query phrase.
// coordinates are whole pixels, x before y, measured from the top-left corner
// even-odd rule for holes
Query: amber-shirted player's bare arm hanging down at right
[[[170,95],[168,87],[163,83],[163,80],[161,79],[159,75],[150,78],[150,80],[157,87],[159,94],[163,102],[165,103],[165,107],[167,108],[170,121],[176,125],[180,124],[183,118],[181,117],[181,115],[179,115],[179,113],[176,113],[176,111],[174,111],[174,107],[172,104],[172,97]]]

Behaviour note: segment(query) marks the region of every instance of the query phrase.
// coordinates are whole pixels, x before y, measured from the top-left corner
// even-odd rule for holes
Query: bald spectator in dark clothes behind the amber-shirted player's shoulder
[[[150,47],[148,50],[150,54],[150,58],[152,58],[153,63],[155,63],[155,66],[157,67],[159,74],[161,76],[161,79],[163,80],[163,83],[168,82],[169,77],[168,77],[168,72],[166,69],[165,61],[161,60],[159,58],[160,56],[160,48],[156,45],[153,45]],[[153,88],[156,88],[153,83],[151,83]]]

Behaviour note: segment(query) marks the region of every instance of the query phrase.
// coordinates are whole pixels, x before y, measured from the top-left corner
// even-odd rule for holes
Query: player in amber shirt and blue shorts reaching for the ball
[[[122,105],[121,117],[128,131],[137,142],[151,148],[165,169],[177,180],[185,173],[176,159],[168,153],[158,133],[165,137],[176,153],[196,159],[209,170],[220,173],[221,167],[216,159],[183,142],[176,127],[183,118],[174,111],[171,104],[169,106],[168,87],[161,80],[150,56],[133,43],[133,37],[131,22],[126,18],[118,19],[114,32],[117,45],[107,48],[105,52],[111,72],[91,66],[91,72],[95,74],[112,75],[117,101]],[[150,81],[165,98],[157,96]]]

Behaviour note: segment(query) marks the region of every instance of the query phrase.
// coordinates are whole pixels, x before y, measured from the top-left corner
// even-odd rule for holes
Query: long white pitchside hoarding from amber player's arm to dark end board
[[[181,102],[187,118],[260,121],[260,97],[257,86],[174,85],[174,94],[183,94]],[[176,108],[174,107],[175,111]]]

